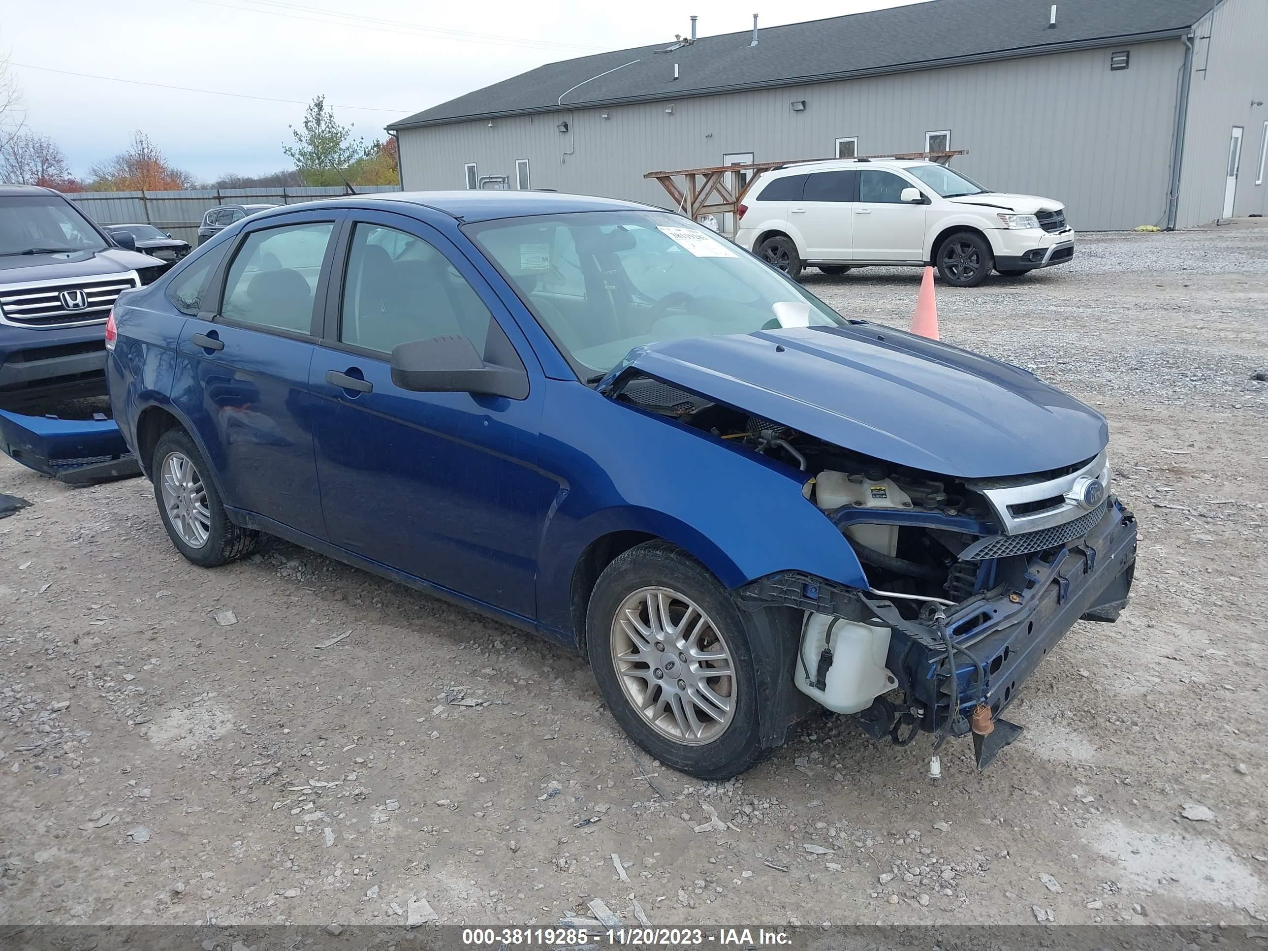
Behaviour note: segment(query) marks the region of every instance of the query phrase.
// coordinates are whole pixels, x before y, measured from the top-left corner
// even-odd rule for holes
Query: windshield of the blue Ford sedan
[[[581,375],[631,347],[843,323],[708,228],[668,212],[585,212],[464,226]]]

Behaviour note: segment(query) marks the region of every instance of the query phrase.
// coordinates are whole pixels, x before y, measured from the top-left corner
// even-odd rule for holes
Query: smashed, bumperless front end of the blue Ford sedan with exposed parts
[[[1104,443],[1042,472],[946,476],[844,449],[637,369],[605,389],[801,473],[803,495],[841,530],[866,585],[794,571],[735,593],[752,610],[804,611],[795,686],[825,709],[858,715],[876,739],[907,744],[928,730],[941,744],[973,734],[984,768],[1019,734],[999,714],[1040,661],[1077,620],[1116,620],[1127,602],[1136,526],[1108,492]]]

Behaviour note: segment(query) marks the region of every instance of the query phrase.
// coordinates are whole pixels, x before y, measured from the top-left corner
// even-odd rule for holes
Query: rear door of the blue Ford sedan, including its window
[[[238,236],[218,293],[178,346],[172,401],[193,421],[224,503],[323,539],[308,366],[344,212],[266,218]]]

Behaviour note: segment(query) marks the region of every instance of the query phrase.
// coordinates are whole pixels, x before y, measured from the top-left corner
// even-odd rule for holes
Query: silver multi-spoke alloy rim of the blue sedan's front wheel
[[[653,729],[689,746],[711,743],[735,713],[735,668],[713,620],[667,587],[629,595],[612,619],[612,666],[630,705]]]

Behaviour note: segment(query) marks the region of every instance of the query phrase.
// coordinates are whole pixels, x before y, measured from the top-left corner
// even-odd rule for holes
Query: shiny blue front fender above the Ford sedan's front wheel
[[[577,562],[615,531],[672,541],[728,588],[789,569],[866,587],[796,469],[576,383],[550,387],[543,418],[541,468],[560,483],[539,555],[545,626],[569,630]]]

